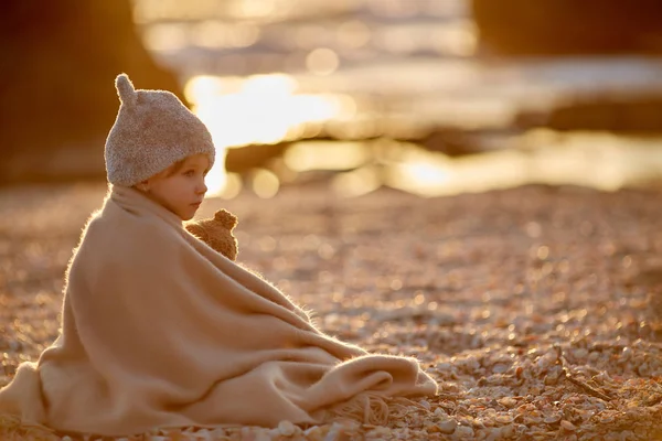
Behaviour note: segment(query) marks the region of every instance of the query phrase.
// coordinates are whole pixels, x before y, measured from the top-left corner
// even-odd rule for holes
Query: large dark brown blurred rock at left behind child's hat
[[[0,182],[103,179],[120,72],[182,96],[145,50],[130,0],[3,0]]]

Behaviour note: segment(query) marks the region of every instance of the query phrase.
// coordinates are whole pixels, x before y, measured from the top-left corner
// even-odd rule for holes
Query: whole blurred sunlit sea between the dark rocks
[[[136,0],[135,19],[222,158],[310,139],[252,173],[265,197],[324,170],[346,195],[531,182],[616,190],[662,176],[658,137],[513,130],[521,112],[577,96],[660,94],[662,58],[499,58],[478,47],[463,0]],[[476,154],[406,142],[439,128],[479,133]],[[228,197],[243,182],[222,165],[210,181]]]

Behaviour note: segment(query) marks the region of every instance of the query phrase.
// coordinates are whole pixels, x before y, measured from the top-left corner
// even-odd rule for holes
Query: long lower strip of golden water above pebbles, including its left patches
[[[382,186],[435,197],[525,184],[616,191],[662,183],[661,138],[532,130],[508,144],[451,158],[408,142],[305,141],[295,143],[284,159],[297,173],[335,172],[331,190],[349,197]]]

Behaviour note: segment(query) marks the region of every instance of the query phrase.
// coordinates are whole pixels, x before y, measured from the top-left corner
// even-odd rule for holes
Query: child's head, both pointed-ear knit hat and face
[[[182,220],[206,193],[215,149],[206,127],[168,92],[134,89],[116,80],[121,107],[106,140],[108,182],[136,187]]]

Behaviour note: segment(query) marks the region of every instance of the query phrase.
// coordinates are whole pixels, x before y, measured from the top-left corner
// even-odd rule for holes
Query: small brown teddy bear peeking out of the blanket
[[[214,217],[186,224],[184,228],[210,247],[231,260],[237,259],[239,246],[232,234],[237,217],[226,209],[218,209]]]

